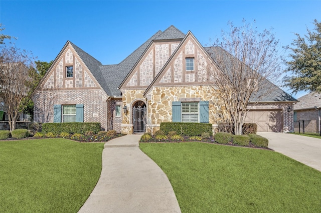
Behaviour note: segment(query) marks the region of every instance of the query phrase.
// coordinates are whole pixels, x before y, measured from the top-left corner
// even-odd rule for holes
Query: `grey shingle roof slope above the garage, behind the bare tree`
[[[237,58],[235,58],[233,55],[228,53],[226,50],[224,50],[221,47],[204,47],[204,49],[209,53],[209,55],[212,57],[212,59],[218,64],[217,58],[215,56],[216,53],[220,53],[224,57],[223,58],[225,62],[225,69],[228,69],[229,71],[232,71],[232,68],[229,68],[229,63],[231,62],[237,62]],[[220,66],[220,65],[218,65]],[[230,65],[232,67],[232,65]],[[232,73],[229,73],[232,74]],[[274,101],[297,101],[294,97],[280,89],[278,86],[276,86],[274,83],[270,82],[266,79],[266,82],[263,82],[263,88],[256,93],[253,93],[250,97],[250,102],[254,102],[255,100],[259,99],[259,102],[274,102]]]

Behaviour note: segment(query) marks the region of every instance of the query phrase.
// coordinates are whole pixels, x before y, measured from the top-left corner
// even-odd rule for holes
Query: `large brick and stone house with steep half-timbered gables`
[[[158,31],[118,64],[102,65],[70,41],[36,91],[36,122],[100,122],[126,134],[158,129],[161,122],[217,125],[224,107],[206,84],[215,66],[209,48],[175,26]],[[219,98],[217,98],[219,101]],[[258,131],[293,130],[296,99],[275,86],[251,107]]]

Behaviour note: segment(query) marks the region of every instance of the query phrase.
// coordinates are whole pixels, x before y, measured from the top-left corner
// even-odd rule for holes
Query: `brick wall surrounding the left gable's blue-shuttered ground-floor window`
[[[43,90],[34,97],[34,121],[53,122],[54,104],[84,104],[84,122],[100,122],[106,128],[107,96],[101,89]]]

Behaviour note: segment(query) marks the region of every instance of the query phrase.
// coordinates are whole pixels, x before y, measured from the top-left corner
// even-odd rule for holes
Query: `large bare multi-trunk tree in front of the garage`
[[[281,75],[281,60],[277,54],[278,40],[269,30],[257,32],[252,25],[235,27],[229,22],[231,31],[222,31],[222,38],[206,47],[215,61],[210,67],[210,85],[220,98],[222,111],[234,125],[235,134],[242,134],[242,125],[251,105],[277,86]],[[222,116],[226,117],[226,116]]]

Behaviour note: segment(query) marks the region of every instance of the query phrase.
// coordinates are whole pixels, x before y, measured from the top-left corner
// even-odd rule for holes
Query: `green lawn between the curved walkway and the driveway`
[[[182,212],[321,212],[321,172],[280,153],[201,142],[140,143]]]

